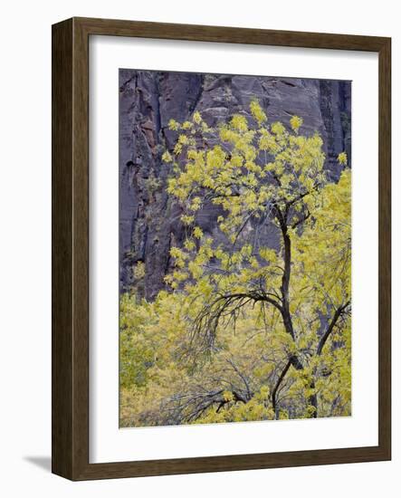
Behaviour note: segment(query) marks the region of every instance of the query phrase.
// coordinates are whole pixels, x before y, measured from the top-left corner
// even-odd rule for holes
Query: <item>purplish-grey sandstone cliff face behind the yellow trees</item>
[[[302,80],[181,72],[119,71],[119,285],[133,286],[153,299],[170,271],[169,249],[182,242],[179,208],[166,192],[164,148],[172,148],[170,119],[188,120],[195,110],[209,125],[249,108],[257,98],[269,120],[288,124],[296,114],[302,133],[318,130],[325,143],[326,165],[339,177],[337,156],[351,158],[350,81]],[[215,206],[204,206],[196,223],[213,234]],[[272,229],[266,244],[277,244]]]

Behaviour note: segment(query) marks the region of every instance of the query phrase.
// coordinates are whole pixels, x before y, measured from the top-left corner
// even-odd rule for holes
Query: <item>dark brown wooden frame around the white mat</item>
[[[113,35],[377,52],[379,59],[378,445],[89,463],[89,37]],[[53,473],[77,480],[391,458],[391,39],[72,18],[53,25]]]

